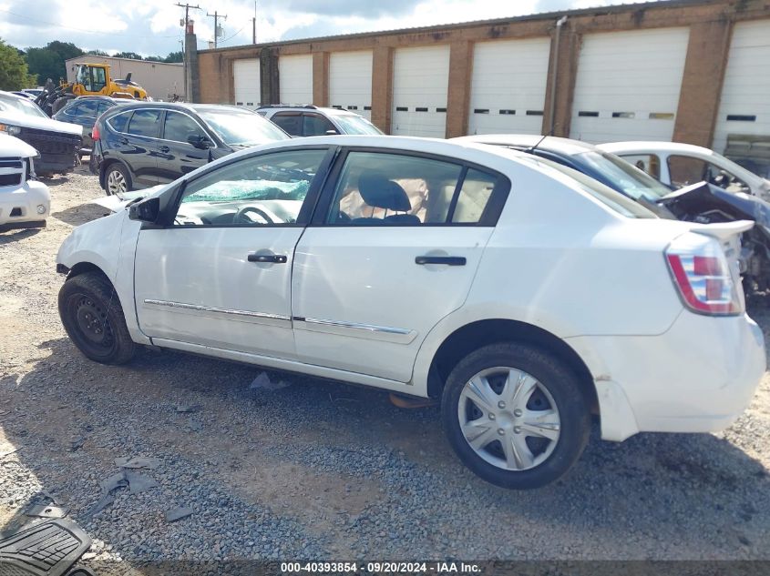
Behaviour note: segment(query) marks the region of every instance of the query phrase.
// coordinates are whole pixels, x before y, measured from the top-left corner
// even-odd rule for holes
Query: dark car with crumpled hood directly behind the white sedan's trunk
[[[501,134],[457,140],[510,147],[547,158],[599,180],[660,217],[700,223],[754,220],[758,226],[744,233],[738,258],[744,286],[750,293],[770,289],[770,204],[759,197],[734,194],[705,182],[673,192],[620,157],[567,138]]]

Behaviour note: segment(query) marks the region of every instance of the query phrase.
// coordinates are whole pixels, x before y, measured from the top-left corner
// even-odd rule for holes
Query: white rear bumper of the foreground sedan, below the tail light
[[[684,311],[659,336],[568,342],[594,375],[605,440],[724,429],[746,409],[766,368],[762,330],[746,315]]]

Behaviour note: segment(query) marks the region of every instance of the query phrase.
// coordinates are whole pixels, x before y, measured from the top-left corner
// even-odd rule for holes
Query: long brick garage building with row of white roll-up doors
[[[770,149],[763,0],[618,5],[203,50],[197,60],[203,102],[335,106],[388,134]]]

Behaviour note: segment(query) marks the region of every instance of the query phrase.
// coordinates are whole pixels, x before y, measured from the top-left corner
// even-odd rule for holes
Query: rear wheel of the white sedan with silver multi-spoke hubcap
[[[470,470],[518,490],[558,480],[580,458],[590,432],[572,371],[547,352],[515,343],[462,359],[447,379],[441,415]]]

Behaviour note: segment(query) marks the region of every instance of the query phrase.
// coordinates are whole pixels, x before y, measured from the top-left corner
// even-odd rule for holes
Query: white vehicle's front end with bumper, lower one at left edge
[[[46,226],[51,194],[36,180],[36,157],[26,142],[0,135],[0,230]]]

